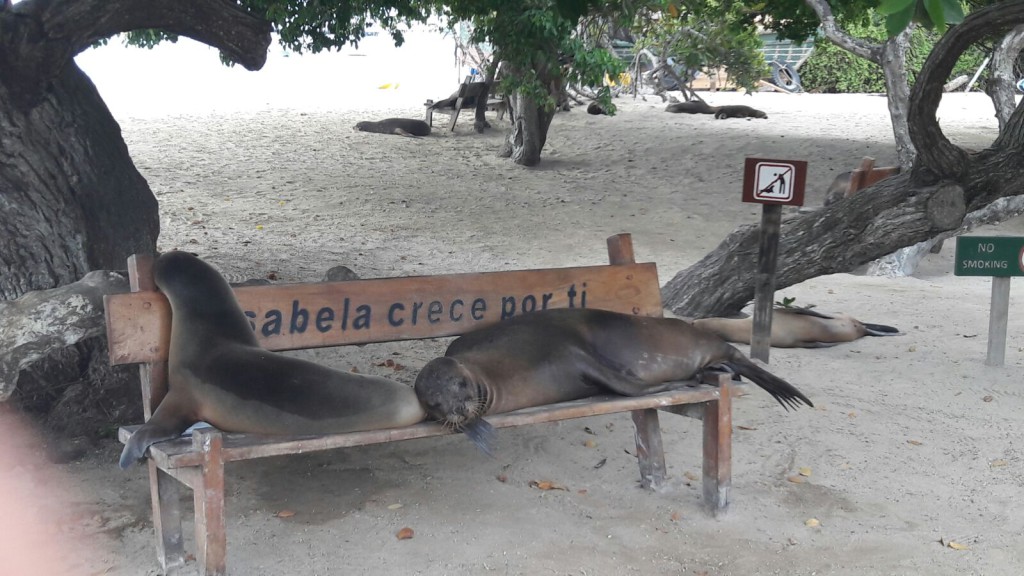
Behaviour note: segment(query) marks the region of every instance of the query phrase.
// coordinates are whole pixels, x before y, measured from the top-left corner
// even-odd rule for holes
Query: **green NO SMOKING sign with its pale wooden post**
[[[1010,278],[1024,276],[1024,238],[1014,236],[958,236],[956,276],[992,277],[988,306],[988,355],[985,364],[1002,366],[1007,355],[1007,320],[1010,317]]]

